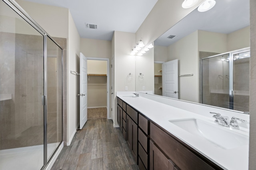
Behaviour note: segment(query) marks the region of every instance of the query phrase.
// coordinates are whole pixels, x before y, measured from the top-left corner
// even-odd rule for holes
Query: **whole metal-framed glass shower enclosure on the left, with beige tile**
[[[62,48],[0,0],[0,169],[44,169],[61,144]]]

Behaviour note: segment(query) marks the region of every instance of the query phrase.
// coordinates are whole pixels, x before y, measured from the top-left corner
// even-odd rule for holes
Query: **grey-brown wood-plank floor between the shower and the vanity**
[[[64,146],[52,170],[138,170],[128,145],[112,120],[88,120],[70,146]]]

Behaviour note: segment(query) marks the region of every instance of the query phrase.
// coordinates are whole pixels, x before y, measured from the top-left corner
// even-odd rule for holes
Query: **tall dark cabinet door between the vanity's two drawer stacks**
[[[132,156],[137,163],[138,126],[129,116],[126,116],[126,140]]]

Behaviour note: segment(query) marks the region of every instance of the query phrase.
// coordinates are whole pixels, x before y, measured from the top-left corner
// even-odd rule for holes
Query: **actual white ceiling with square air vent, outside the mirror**
[[[26,0],[69,8],[80,37],[112,40],[114,31],[135,33],[157,0]],[[88,29],[85,23],[98,25]]]

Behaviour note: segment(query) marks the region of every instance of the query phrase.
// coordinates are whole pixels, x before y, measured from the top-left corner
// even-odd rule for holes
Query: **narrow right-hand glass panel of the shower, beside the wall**
[[[47,162],[62,141],[62,49],[47,37]]]

